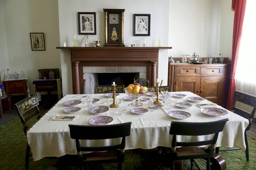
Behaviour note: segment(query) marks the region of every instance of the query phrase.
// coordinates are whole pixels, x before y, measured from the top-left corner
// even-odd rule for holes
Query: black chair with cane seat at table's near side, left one
[[[81,170],[88,164],[119,163],[119,169],[123,169],[125,159],[125,137],[130,136],[131,122],[102,125],[68,125],[70,128],[71,139],[76,139],[76,150]],[[99,147],[82,147],[79,139],[99,140],[122,138],[121,144]],[[82,151],[93,153],[83,154]],[[99,152],[106,151],[106,152]]]

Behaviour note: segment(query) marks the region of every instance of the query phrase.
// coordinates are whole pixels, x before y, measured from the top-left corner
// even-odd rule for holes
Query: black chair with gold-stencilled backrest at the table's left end
[[[18,115],[20,116],[21,123],[23,125],[23,130],[24,130],[25,135],[27,133],[27,130],[29,129],[26,122],[28,122],[32,117],[34,117],[36,115],[38,116],[37,119],[39,119],[41,117],[41,113],[39,112],[38,105],[39,105],[38,99],[36,98],[35,95],[30,96],[26,99],[23,99],[20,102],[17,102],[15,104],[15,107],[17,108]],[[28,111],[30,111],[33,108],[35,108],[35,111],[33,111],[32,113],[28,113]],[[28,115],[26,115],[26,117],[24,117],[24,113],[28,113]],[[26,169],[29,169],[29,156],[31,156],[30,155],[30,147],[29,147],[29,144],[27,143],[26,163],[25,163]]]

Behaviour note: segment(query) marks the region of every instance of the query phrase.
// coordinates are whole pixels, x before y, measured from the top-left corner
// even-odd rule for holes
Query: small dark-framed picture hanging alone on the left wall
[[[30,33],[32,51],[44,51],[44,33]]]

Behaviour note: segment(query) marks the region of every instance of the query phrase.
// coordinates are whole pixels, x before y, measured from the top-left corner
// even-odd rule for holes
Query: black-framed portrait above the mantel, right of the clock
[[[134,14],[134,36],[150,36],[150,14]]]

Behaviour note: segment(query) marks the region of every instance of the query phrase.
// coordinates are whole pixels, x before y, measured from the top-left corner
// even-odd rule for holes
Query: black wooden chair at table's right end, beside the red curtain
[[[252,121],[253,121],[253,117],[256,111],[256,96],[250,95],[250,94],[246,94],[240,91],[235,91],[234,95],[233,95],[233,105],[231,107],[231,111],[233,111],[234,113],[246,118],[249,120],[249,125],[246,127],[246,129],[244,130],[244,142],[246,145],[246,149],[245,149],[245,156],[246,156],[246,160],[249,161],[249,146],[248,146],[248,141],[247,141],[247,135],[246,135],[246,131],[250,130],[250,127],[252,125]],[[243,111],[239,108],[237,108],[236,102],[241,102],[245,105],[251,106],[253,107],[253,111],[251,113],[248,113],[246,111]],[[220,150],[219,147],[216,147],[215,153],[218,154],[219,151],[228,151],[228,150],[240,150],[241,148],[229,148],[229,149],[222,149]]]

